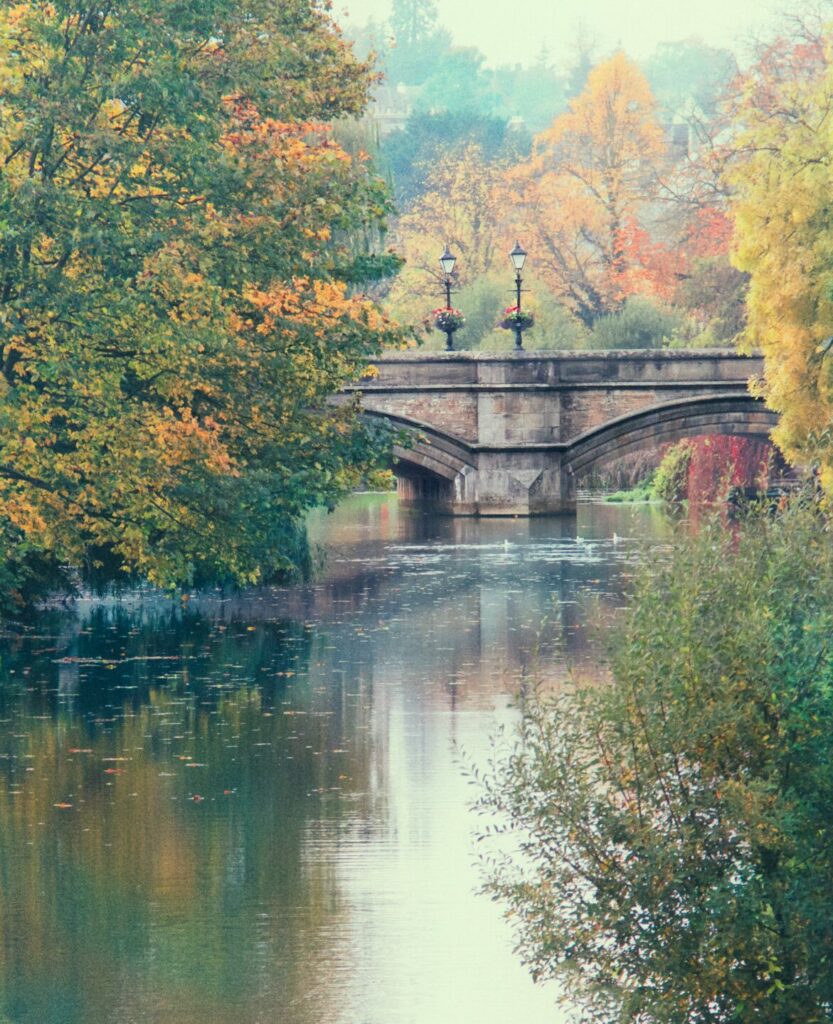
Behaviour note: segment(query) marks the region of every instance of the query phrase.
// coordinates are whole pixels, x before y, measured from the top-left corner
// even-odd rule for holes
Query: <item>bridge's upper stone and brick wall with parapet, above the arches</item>
[[[397,352],[360,390],[367,409],[473,444],[570,443],[640,409],[743,390],[757,356],[722,349],[651,352]]]

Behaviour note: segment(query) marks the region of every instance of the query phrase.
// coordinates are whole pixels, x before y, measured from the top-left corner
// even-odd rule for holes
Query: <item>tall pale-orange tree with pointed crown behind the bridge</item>
[[[664,254],[644,234],[665,160],[648,81],[618,52],[593,69],[570,110],[508,176],[536,266],[587,327],[629,295],[661,293],[670,278]]]

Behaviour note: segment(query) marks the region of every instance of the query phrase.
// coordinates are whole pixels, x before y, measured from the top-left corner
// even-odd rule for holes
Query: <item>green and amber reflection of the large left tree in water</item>
[[[63,639],[69,698],[42,637],[4,658],[32,680],[7,690],[0,740],[5,1012],[324,1019],[322,956],[338,957],[346,909],[301,851],[313,822],[370,813],[361,678],[350,699],[322,692],[307,669],[327,638],[285,622],[99,608]]]

